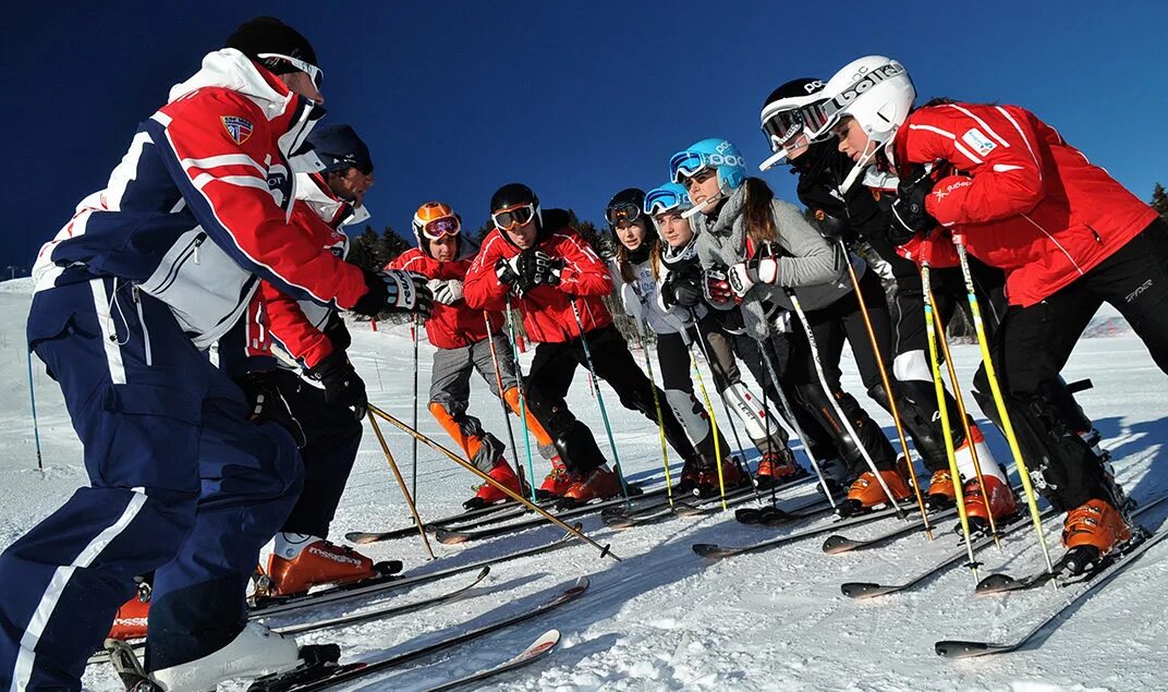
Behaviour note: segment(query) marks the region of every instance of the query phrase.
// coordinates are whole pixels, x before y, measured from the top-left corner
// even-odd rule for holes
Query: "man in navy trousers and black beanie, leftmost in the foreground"
[[[81,688],[134,576],[155,570],[147,660],[168,690],[297,665],[248,622],[259,548],[300,490],[292,436],[203,348],[260,279],[374,314],[429,291],[362,272],[292,228],[293,171],[322,115],[312,46],[242,25],[138,130],[34,268],[29,346],[64,394],[90,485],[0,555],[0,688]]]

